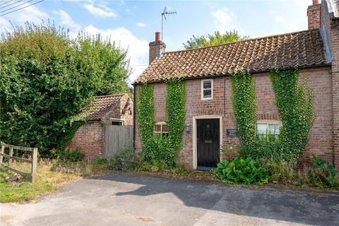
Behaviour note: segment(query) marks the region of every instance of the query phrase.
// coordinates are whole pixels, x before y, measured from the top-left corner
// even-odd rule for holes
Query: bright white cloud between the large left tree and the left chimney
[[[107,37],[114,41],[120,47],[128,49],[128,56],[131,59],[130,65],[133,68],[129,80],[133,82],[145,70],[148,64],[148,41],[141,40],[134,36],[130,30],[126,28],[116,29],[99,29],[93,25],[88,25],[84,31],[89,35],[100,33],[102,37]]]

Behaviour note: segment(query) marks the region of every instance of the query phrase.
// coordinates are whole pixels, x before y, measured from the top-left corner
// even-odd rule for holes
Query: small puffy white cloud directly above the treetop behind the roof
[[[215,18],[215,28],[224,33],[227,30],[233,30],[235,28],[234,22],[237,20],[237,14],[230,11],[228,8],[220,8],[217,11],[212,12],[212,16]]]

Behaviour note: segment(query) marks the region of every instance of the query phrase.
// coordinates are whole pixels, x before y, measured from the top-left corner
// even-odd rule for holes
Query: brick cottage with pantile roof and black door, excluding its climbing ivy
[[[165,52],[160,33],[150,42],[150,65],[134,82],[134,101],[141,83],[153,83],[155,130],[166,126],[165,78],[183,74],[186,80],[186,129],[179,160],[187,167],[213,167],[208,158],[220,156],[219,145],[237,147],[230,74],[250,71],[256,83],[258,133],[278,133],[280,119],[269,72],[299,69],[300,81],[314,90],[316,119],[302,159],[319,155],[339,167],[339,17],[338,2],[314,0],[307,8],[309,30],[261,37],[200,49]],[[135,112],[136,114],[136,112]],[[134,123],[136,151],[141,151],[138,121]],[[187,130],[187,131],[186,131]],[[215,136],[210,137],[208,131]],[[159,132],[159,131],[156,131]],[[213,151],[211,155],[203,152]]]

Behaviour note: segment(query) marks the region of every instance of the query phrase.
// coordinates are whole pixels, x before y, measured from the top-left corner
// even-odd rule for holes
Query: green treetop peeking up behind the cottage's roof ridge
[[[197,49],[201,47],[210,47],[217,44],[227,44],[230,42],[237,42],[239,40],[246,39],[249,39],[249,37],[239,35],[237,30],[230,30],[225,32],[225,34],[220,34],[220,32],[215,31],[214,35],[193,35],[186,43],[183,44],[185,49]]]

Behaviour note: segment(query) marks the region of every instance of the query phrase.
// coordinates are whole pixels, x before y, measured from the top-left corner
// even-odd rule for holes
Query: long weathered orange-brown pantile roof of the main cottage
[[[134,83],[221,76],[237,71],[252,73],[328,65],[319,29],[222,44],[213,47],[165,52]]]

